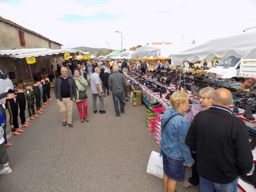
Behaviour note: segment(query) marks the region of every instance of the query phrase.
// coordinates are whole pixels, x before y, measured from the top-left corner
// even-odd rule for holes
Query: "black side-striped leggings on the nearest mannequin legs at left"
[[[12,131],[16,131],[18,129],[19,124],[18,124],[18,102],[16,101],[15,98],[12,99],[6,99],[6,108],[9,111],[10,115],[10,125]]]

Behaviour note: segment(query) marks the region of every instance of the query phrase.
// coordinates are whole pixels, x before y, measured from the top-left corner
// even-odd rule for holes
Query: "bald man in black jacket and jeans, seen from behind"
[[[229,109],[233,102],[229,90],[219,88],[213,100],[210,109],[195,116],[185,142],[196,151],[200,191],[235,192],[238,176],[249,173],[253,165],[249,134]]]

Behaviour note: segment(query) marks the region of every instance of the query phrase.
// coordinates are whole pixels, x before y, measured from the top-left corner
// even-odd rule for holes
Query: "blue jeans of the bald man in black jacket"
[[[237,182],[238,179],[235,179],[229,184],[218,184],[200,176],[200,192],[214,192],[214,189],[216,192],[237,192]]]

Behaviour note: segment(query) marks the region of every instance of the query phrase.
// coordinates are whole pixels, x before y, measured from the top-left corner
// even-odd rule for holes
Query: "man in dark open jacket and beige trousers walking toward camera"
[[[55,97],[61,112],[62,125],[73,127],[72,109],[73,101],[76,100],[76,83],[72,77],[67,76],[67,68],[61,68],[61,76],[57,78],[54,85]]]

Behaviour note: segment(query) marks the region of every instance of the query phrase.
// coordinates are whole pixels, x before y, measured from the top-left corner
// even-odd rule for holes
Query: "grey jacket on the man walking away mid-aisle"
[[[124,74],[115,71],[109,76],[109,88],[112,93],[121,93],[124,92],[126,82]]]

